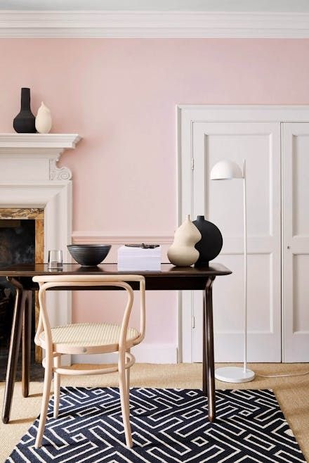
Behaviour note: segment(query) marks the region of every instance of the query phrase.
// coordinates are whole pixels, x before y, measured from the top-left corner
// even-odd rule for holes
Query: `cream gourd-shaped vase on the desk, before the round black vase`
[[[174,235],[173,244],[167,251],[167,257],[173,265],[188,267],[199,258],[199,251],[195,244],[202,238],[195,224],[192,224],[190,215],[180,225]]]

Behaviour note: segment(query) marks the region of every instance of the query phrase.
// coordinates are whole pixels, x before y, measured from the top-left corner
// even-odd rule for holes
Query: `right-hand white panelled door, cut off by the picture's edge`
[[[309,359],[309,124],[282,125],[284,360]]]

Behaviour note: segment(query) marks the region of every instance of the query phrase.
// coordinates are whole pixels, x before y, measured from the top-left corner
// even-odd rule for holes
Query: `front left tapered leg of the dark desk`
[[[4,423],[8,423],[10,419],[18,354],[20,350],[20,337],[22,333],[22,315],[24,313],[25,298],[27,296],[27,291],[23,291],[22,285],[19,283],[19,281],[16,281],[15,279],[10,279],[10,281],[15,286],[16,296],[10,347],[8,350],[8,365],[6,367],[6,387],[4,390],[4,408],[2,411],[2,421]]]

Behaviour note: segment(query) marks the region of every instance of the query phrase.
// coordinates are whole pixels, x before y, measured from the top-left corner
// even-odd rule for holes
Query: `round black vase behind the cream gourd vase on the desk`
[[[215,224],[205,220],[204,215],[198,215],[197,220],[194,220],[193,223],[202,235],[202,239],[195,245],[199,251],[199,258],[195,262],[195,267],[208,267],[209,260],[216,258],[222,249],[221,232]]]

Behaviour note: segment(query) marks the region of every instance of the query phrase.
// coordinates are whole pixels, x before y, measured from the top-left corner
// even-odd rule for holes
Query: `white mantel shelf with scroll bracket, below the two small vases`
[[[57,163],[80,139],[78,134],[0,134],[0,182],[70,180],[70,169]]]

